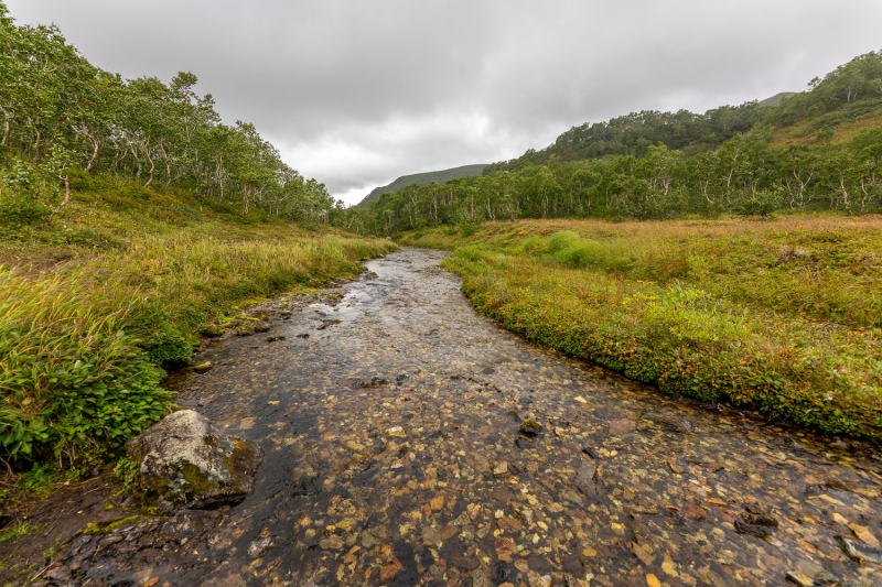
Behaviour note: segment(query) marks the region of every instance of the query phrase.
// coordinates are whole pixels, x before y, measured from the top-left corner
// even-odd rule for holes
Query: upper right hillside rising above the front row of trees
[[[603,122],[585,122],[561,133],[553,144],[529,149],[519,157],[492,163],[488,175],[530,165],[581,161],[605,155],[645,155],[664,143],[687,155],[718,149],[736,134],[768,131],[775,146],[851,140],[880,120],[882,113],[882,56],[859,55],[824,78],[816,77],[806,91],[782,91],[761,101],[721,106],[704,113],[644,110]]]

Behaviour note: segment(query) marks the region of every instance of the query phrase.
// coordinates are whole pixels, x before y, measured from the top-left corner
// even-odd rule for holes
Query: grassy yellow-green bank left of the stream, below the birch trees
[[[100,457],[168,412],[162,367],[230,307],[354,275],[392,243],[92,181],[51,226],[0,226],[0,457]]]

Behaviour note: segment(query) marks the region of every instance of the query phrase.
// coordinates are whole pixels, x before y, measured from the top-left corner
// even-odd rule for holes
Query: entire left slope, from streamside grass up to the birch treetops
[[[0,2],[0,497],[71,478],[168,414],[163,368],[249,300],[392,250],[196,76],[122,79]],[[45,483],[42,483],[45,485]]]

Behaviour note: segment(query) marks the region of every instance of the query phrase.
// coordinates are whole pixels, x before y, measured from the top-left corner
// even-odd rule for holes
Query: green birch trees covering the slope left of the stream
[[[82,173],[187,189],[245,215],[326,221],[336,205],[254,124],[224,124],[194,74],[122,79],[56,26],[17,25],[2,2],[0,80],[0,220],[51,219]]]

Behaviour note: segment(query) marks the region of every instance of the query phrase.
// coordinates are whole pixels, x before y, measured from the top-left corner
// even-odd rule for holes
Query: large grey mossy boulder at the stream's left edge
[[[181,410],[127,444],[148,496],[186,508],[241,501],[254,490],[262,449]]]

